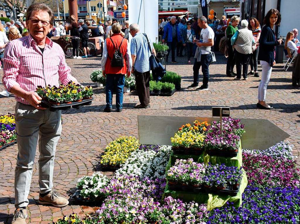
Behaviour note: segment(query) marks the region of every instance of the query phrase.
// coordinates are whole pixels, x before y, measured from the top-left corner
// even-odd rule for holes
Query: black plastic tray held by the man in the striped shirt
[[[92,101],[94,100],[93,97],[89,99],[82,99],[77,102],[68,102],[68,103],[61,103],[61,104],[52,104],[47,100],[41,100],[41,106],[45,108],[50,108],[50,111],[56,110],[69,110],[72,108],[79,109],[80,106],[87,106],[91,105]]]

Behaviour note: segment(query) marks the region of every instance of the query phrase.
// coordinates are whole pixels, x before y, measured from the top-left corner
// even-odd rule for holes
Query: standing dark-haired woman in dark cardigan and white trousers
[[[281,15],[277,9],[270,9],[265,15],[262,32],[259,38],[259,53],[258,60],[262,66],[262,78],[258,86],[258,103],[256,107],[260,109],[272,109],[265,103],[265,95],[267,93],[268,83],[272,72],[272,67],[275,65],[275,46],[280,45],[282,40],[276,40],[273,30],[274,25],[280,25]]]

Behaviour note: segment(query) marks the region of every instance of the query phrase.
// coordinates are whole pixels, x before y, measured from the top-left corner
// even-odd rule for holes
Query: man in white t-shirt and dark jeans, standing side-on
[[[200,40],[195,40],[198,46],[195,53],[195,62],[193,66],[194,82],[187,88],[194,89],[199,83],[199,69],[202,67],[203,84],[197,90],[208,90],[209,70],[208,66],[213,57],[211,47],[214,45],[214,31],[207,24],[207,19],[204,16],[199,17],[198,26],[202,28]]]

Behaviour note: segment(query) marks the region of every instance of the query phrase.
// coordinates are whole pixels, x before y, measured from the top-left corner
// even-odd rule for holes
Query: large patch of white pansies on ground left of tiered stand
[[[145,146],[131,153],[116,175],[133,175],[143,178],[164,178],[171,154],[170,146]]]

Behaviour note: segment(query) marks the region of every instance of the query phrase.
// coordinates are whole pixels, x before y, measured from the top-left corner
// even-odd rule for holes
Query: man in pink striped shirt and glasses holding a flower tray
[[[41,107],[37,86],[59,86],[70,75],[61,47],[47,33],[53,26],[54,14],[45,4],[32,4],[27,9],[29,36],[11,41],[4,54],[3,84],[16,96],[16,136],[18,157],[15,170],[14,224],[25,224],[33,164],[39,138],[39,203],[64,207],[68,200],[52,190],[54,156],[61,134],[61,111],[51,112]]]

